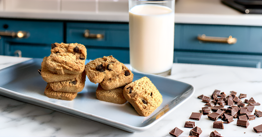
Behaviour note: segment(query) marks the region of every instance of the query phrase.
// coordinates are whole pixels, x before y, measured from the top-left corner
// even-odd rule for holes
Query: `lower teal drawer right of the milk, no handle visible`
[[[175,52],[174,62],[261,68],[262,56]]]

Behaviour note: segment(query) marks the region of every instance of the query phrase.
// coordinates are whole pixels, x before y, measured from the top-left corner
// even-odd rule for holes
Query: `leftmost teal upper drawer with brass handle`
[[[63,23],[55,21],[26,21],[0,19],[0,30],[27,31],[28,38],[2,36],[6,41],[17,43],[51,44],[63,42]]]

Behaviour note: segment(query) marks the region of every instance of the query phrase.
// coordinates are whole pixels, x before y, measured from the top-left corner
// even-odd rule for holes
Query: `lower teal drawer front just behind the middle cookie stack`
[[[112,48],[87,48],[87,59],[96,59],[98,57],[113,55],[122,63],[129,63],[129,49],[112,49]]]

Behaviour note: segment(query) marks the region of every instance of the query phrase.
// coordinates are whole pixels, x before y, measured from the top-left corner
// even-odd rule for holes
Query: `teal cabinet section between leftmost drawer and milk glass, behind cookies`
[[[101,37],[85,37],[85,33]],[[87,59],[113,55],[129,63],[129,27],[127,23],[66,23],[66,43],[81,43]]]

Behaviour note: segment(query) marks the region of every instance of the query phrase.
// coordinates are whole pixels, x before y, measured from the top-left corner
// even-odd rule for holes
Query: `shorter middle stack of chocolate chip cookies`
[[[123,63],[112,55],[104,56],[87,63],[85,70],[90,82],[99,83],[97,99],[116,104],[126,102],[123,88],[133,81],[134,74]]]

